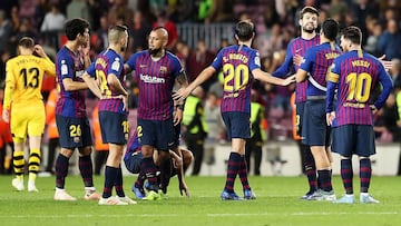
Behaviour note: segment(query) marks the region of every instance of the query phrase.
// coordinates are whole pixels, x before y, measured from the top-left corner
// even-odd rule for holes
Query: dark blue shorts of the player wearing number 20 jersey
[[[251,115],[246,112],[223,112],[227,138],[251,138]]]

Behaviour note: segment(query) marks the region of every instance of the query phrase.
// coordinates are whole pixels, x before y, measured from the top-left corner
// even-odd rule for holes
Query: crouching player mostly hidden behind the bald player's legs
[[[194,157],[189,150],[180,147],[178,147],[178,149],[183,157],[179,157],[175,151],[169,150],[170,159],[162,164],[158,163],[158,153],[157,151],[154,153],[154,161],[158,166],[157,180],[163,191],[163,195],[167,194],[169,178],[174,177],[175,175],[178,175],[180,194],[183,195],[183,191],[185,191],[186,196],[189,196],[186,184],[183,177],[179,176],[179,168],[180,165],[183,165],[183,169],[185,171],[193,161]],[[140,146],[137,134],[135,132],[128,141],[127,151],[124,156],[124,163],[128,171],[133,174],[139,174],[141,159],[143,156],[140,153]],[[133,191],[138,199],[143,199],[146,197],[144,189],[145,179],[146,176],[139,174],[137,180],[133,185]],[[160,199],[160,197],[157,199]]]

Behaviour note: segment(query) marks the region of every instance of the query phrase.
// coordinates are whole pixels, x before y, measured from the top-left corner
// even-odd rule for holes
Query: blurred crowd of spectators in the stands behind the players
[[[393,61],[389,72],[394,80],[394,94],[375,116],[375,131],[379,141],[400,141],[401,122],[395,99],[401,88],[401,0],[1,0],[0,81],[3,83],[6,61],[17,55],[16,43],[21,37],[32,37],[53,58],[66,41],[63,23],[71,18],[90,21],[92,57],[108,46],[107,30],[113,24],[129,28],[126,59],[133,52],[147,49],[147,35],[153,27],[165,27],[169,32],[167,49],[180,58],[189,80],[194,80],[213,61],[218,49],[211,48],[202,35],[198,35],[196,45],[189,46],[177,27],[232,26],[238,20],[251,19],[255,23],[254,48],[260,50],[262,68],[273,72],[283,62],[290,40],[300,35],[299,12],[304,6],[319,9],[320,21],[333,18],[342,28],[351,24],[360,27],[364,49],[376,57],[385,55],[387,60]],[[219,48],[233,40],[222,39]],[[134,128],[137,104],[135,79],[129,79],[128,86],[133,90],[129,118]],[[294,86],[254,86],[258,101],[265,107],[266,132],[271,140],[292,139],[290,97]],[[42,88],[45,100],[53,88],[53,78],[47,78]],[[209,94],[222,97],[218,75],[202,88],[205,105]],[[87,107],[90,117],[96,107],[95,97],[90,94]],[[219,134],[219,139],[225,139],[224,134]],[[48,139],[45,137],[45,140]]]

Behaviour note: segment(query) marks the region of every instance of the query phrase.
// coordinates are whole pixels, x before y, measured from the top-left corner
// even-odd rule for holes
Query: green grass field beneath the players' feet
[[[130,185],[135,177],[125,177],[126,194],[134,197]],[[354,185],[359,189],[358,176]],[[303,177],[251,177],[256,200],[222,202],[223,177],[187,177],[190,198],[180,197],[176,178],[172,179],[168,198],[159,202],[138,202],[130,206],[98,206],[82,199],[80,177],[67,178],[68,191],[78,202],[55,202],[53,177],[38,178],[39,193],[16,191],[10,176],[0,176],[0,225],[401,225],[400,177],[373,177],[372,195],[375,205],[339,205],[325,202],[304,202]],[[96,177],[99,191],[102,177]],[[236,190],[242,194],[239,180]],[[341,178],[334,177],[338,197],[343,194]],[[356,193],[359,198],[359,193]],[[359,199],[358,199],[359,200]]]

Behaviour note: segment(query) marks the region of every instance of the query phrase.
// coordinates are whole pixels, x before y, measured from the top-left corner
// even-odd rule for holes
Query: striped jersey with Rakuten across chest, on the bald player
[[[154,61],[147,50],[134,53],[127,65],[135,70],[139,98],[138,118],[166,120],[173,117],[173,86],[184,71],[178,58],[166,52]]]

